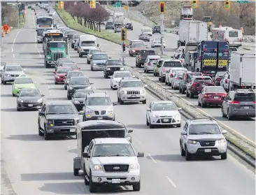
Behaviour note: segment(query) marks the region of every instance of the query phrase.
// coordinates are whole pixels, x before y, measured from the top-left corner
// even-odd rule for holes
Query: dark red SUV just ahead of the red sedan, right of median
[[[194,76],[190,85],[187,86],[186,95],[190,99],[201,93],[204,86],[215,86],[210,76]]]

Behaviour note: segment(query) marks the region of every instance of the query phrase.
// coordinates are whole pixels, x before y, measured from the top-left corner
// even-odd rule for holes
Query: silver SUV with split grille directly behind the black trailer
[[[115,120],[113,103],[106,93],[87,94],[84,101],[83,121],[86,120]]]

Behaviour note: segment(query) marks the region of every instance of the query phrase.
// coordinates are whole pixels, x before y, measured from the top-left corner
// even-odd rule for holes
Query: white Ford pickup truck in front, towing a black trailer
[[[141,190],[141,171],[136,154],[127,138],[95,138],[83,152],[85,185],[90,192],[97,186],[132,185],[134,191]]]

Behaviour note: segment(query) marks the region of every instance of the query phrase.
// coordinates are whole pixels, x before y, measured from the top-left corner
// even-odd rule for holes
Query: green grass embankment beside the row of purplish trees
[[[59,14],[59,17],[61,17],[62,20],[65,22],[66,26],[71,28],[71,29],[75,29],[75,30],[83,32],[85,34],[92,34],[94,36],[106,39],[106,40],[111,41],[113,43],[118,43],[118,44],[122,43],[122,41],[120,40],[120,38],[121,38],[120,33],[113,34],[110,31],[106,31],[104,29],[101,29],[101,32],[94,31],[92,29],[89,29],[87,27],[83,27],[82,25],[78,24],[78,22],[76,22],[76,20],[73,20],[73,17],[68,12],[66,12],[66,10],[59,9],[59,8],[55,8],[55,10]],[[129,42],[127,41],[126,44],[128,45],[128,43]]]

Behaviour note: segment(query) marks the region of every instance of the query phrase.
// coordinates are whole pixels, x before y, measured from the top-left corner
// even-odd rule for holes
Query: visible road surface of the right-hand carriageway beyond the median
[[[117,8],[118,9],[118,8]],[[127,32],[127,38],[129,40],[134,40],[134,39],[138,39],[138,35],[141,34],[141,29],[143,29],[143,24],[136,22],[136,21],[132,21],[129,20],[129,18],[125,17],[125,23],[126,22],[132,22],[132,24],[134,25],[134,30],[133,31],[128,31]],[[161,35],[159,34],[154,34],[152,36],[152,38],[154,37],[160,37]],[[152,39],[151,38],[151,39]],[[174,48],[177,48],[177,41],[178,41],[178,35],[176,34],[171,34],[171,33],[164,33],[164,40],[166,42],[166,51],[164,51],[164,54],[167,55],[168,57],[173,56],[175,53]],[[150,43],[146,43],[148,44],[149,48],[150,48]],[[156,49],[156,50],[160,50],[160,49]],[[239,48],[240,51],[243,52],[250,52],[247,50],[243,50],[242,48]],[[129,62],[131,62],[130,64],[128,64],[129,66],[135,66],[135,57],[134,57],[134,61],[132,62],[131,60],[129,60]],[[140,71],[141,73],[143,73],[143,68],[136,68],[138,71]],[[144,74],[144,73],[143,73]],[[144,75],[148,75],[148,77],[152,80],[155,80],[155,82],[159,82],[157,77],[154,77],[154,75],[152,75],[152,73],[148,73],[148,74],[144,74]],[[173,90],[171,89],[171,87],[168,87],[167,85],[165,85],[162,82],[161,85],[163,87],[166,87],[166,89],[171,90],[171,92],[174,92],[175,94],[178,94],[178,96],[182,96],[184,99],[186,99],[187,101],[189,101],[192,105],[194,106],[198,106],[198,101],[197,101],[197,97],[195,97],[195,99],[190,99],[187,98],[185,96],[185,94],[180,94],[178,92],[178,90]],[[246,138],[252,140],[253,142],[255,142],[255,118],[238,118],[235,119],[233,121],[229,121],[227,120],[227,118],[222,118],[222,114],[221,114],[221,108],[220,106],[215,106],[215,107],[211,107],[211,108],[199,108],[200,110],[203,110],[204,113],[211,115],[213,117],[215,117],[216,120],[222,122],[223,124],[227,125],[227,127],[230,127],[232,129],[234,129],[235,131],[237,131],[238,133],[241,133],[243,136],[246,136]]]

